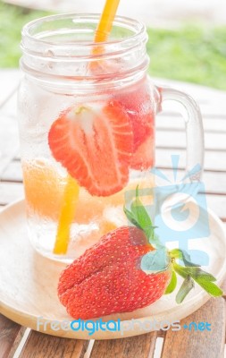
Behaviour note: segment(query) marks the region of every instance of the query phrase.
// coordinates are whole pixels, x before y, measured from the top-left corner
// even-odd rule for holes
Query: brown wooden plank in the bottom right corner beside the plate
[[[162,358],[223,358],[225,313],[222,297],[209,300],[198,311],[180,321],[180,331],[166,332]],[[208,322],[211,330],[196,331],[194,327],[189,330],[191,322]]]

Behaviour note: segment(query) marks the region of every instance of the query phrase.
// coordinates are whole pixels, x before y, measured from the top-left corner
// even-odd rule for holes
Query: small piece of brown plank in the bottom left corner
[[[26,328],[0,315],[0,358],[12,358]]]

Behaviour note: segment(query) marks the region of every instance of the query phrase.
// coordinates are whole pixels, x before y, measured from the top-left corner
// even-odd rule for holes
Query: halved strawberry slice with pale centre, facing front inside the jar
[[[67,109],[52,124],[48,143],[55,160],[91,195],[109,196],[128,183],[133,132],[118,102]]]

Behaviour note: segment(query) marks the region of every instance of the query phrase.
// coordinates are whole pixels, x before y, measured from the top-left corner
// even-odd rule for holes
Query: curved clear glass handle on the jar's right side
[[[158,88],[161,101],[173,100],[185,107],[186,125],[186,172],[191,182],[199,182],[204,166],[204,130],[200,109],[197,102],[188,94],[167,87]]]

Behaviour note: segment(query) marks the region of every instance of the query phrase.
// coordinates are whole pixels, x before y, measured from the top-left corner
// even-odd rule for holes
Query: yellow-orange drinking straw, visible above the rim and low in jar
[[[113,27],[113,19],[117,12],[120,0],[106,0],[105,8],[101,15],[100,21],[96,29],[95,42],[105,42]],[[67,253],[70,242],[71,223],[76,210],[80,194],[79,184],[71,178],[67,177],[67,183],[63,194],[63,207],[57,227],[57,234],[54,243],[54,253],[63,255]]]

